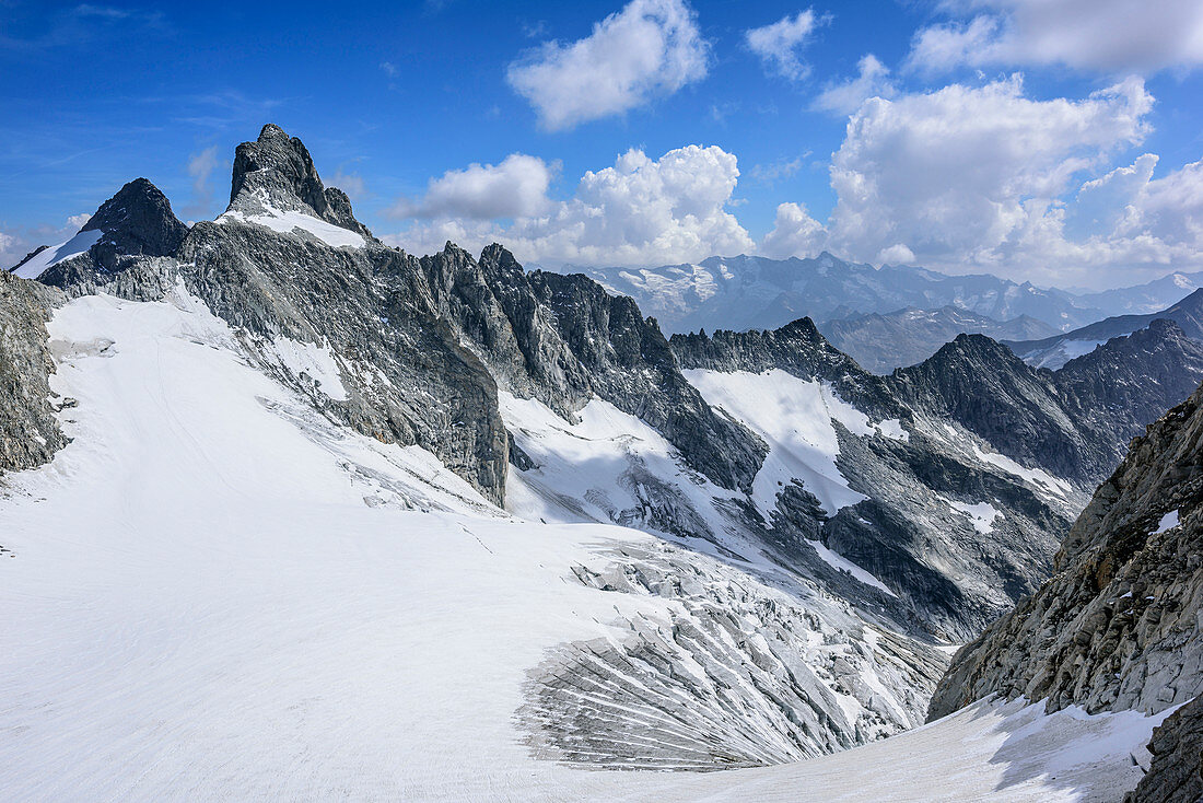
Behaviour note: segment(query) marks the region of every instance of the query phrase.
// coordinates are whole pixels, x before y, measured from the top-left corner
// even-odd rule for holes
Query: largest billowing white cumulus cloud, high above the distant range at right
[[[869,100],[832,158],[828,247],[871,260],[905,246],[931,266],[996,266],[1077,175],[1144,138],[1151,106],[1137,78],[1077,101],[1031,100],[1019,76]]]

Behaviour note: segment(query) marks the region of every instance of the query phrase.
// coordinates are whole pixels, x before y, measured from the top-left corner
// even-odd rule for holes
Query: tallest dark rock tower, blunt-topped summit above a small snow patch
[[[230,208],[244,214],[269,209],[302,212],[372,236],[355,219],[346,193],[321,183],[304,143],[272,123],[263,126],[257,140],[235,149]]]

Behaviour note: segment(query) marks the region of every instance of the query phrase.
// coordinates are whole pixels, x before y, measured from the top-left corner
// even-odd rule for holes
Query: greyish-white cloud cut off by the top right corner
[[[1198,0],[947,0],[955,19],[915,34],[908,66],[1063,64],[1149,73],[1203,64]]]

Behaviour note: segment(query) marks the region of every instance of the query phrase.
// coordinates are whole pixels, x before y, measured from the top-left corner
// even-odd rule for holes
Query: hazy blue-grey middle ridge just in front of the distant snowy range
[[[1031,315],[1002,321],[952,306],[837,318],[820,324],[819,330],[836,348],[873,373],[921,362],[958,335],[986,335],[996,341],[1056,335],[1055,329]]]

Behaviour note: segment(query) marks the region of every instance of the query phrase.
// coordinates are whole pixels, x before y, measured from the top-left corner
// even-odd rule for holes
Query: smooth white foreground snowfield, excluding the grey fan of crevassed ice
[[[691,615],[574,567],[688,553],[508,518],[313,413],[182,293],[78,299],[49,330],[78,406],[72,443],[0,497],[5,799],[1080,801],[1137,780],[1155,720],[1023,703],[757,769],[539,760],[515,713],[551,648]]]

